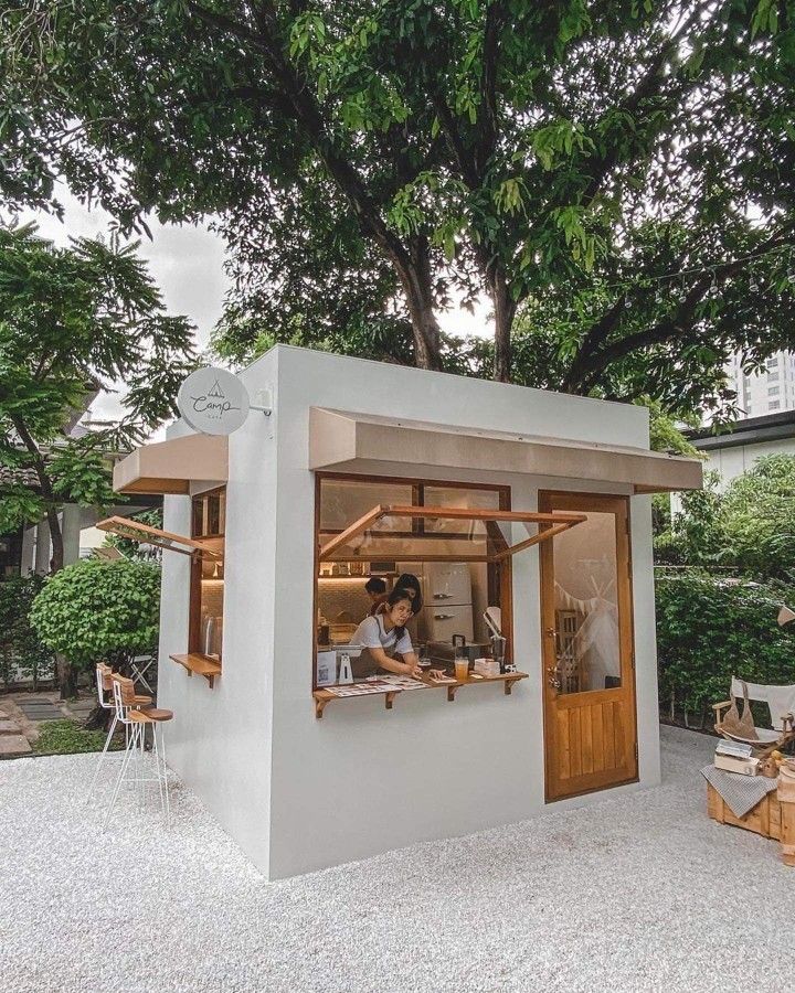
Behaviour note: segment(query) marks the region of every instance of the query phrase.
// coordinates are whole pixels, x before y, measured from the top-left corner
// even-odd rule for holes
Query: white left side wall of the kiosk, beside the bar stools
[[[275,383],[276,354],[257,365]],[[178,423],[168,437],[187,434]],[[197,485],[194,492],[211,483]],[[268,873],[275,608],[276,444],[273,420],[252,413],[230,438],[224,564],[224,671],[211,690],[170,654],[188,650],[190,560],[163,555],[158,703],[169,765],[250,857]],[[163,526],[190,534],[190,498],[167,496]]]

